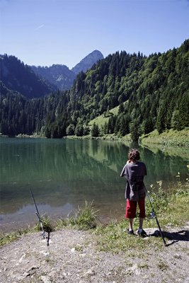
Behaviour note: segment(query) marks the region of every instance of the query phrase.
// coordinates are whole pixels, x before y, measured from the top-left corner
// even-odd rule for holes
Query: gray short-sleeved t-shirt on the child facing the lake
[[[146,196],[144,176],[147,175],[147,168],[143,162],[127,163],[122,168],[121,177],[126,176],[127,184],[125,198],[128,200],[140,200]]]

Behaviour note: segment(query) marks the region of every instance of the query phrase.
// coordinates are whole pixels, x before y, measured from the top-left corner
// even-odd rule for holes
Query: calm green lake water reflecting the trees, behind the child
[[[0,139],[0,224],[10,231],[37,221],[30,188],[40,214],[67,216],[93,201],[100,220],[120,219],[125,212],[125,178],[120,171],[128,147],[120,141],[68,139]],[[185,154],[139,148],[147,165],[145,183],[176,183],[187,176]]]

